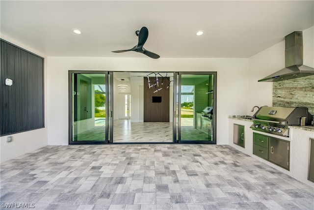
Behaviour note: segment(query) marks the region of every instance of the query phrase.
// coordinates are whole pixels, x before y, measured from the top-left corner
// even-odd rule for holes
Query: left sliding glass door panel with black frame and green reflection
[[[104,71],[69,71],[69,144],[110,141],[109,80]]]

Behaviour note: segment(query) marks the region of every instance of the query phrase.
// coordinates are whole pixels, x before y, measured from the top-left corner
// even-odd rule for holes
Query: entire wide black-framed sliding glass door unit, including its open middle
[[[216,144],[216,72],[69,71],[69,144],[139,142]]]

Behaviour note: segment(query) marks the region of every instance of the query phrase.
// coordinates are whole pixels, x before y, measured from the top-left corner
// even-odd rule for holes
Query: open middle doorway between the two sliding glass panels
[[[162,81],[165,76],[168,79]],[[173,142],[170,80],[173,73],[158,73],[156,77],[152,72],[113,72],[113,143]],[[158,118],[160,113],[166,117]]]

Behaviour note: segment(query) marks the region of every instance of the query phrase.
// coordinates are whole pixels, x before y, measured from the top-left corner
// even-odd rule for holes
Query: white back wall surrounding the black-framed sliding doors
[[[228,115],[245,114],[248,59],[48,58],[48,144],[68,145],[68,70],[217,72],[217,144],[228,144]],[[142,78],[140,78],[142,80]],[[58,81],[56,85],[55,81]],[[132,82],[131,82],[132,87]],[[137,90],[138,92],[140,90]],[[132,92],[132,101],[136,101]],[[265,92],[266,96],[269,94]],[[132,115],[136,110],[132,107]]]

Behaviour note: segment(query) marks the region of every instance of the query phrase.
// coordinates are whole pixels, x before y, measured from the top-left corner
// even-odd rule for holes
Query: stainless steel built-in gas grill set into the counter
[[[311,125],[313,116],[307,107],[261,107],[253,118],[253,130],[289,136],[289,125]]]

